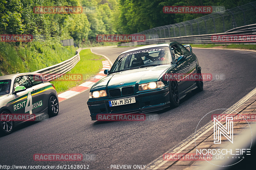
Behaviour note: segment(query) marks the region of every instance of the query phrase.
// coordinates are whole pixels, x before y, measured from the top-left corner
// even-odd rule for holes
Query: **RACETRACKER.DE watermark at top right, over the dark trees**
[[[164,6],[164,13],[224,13],[224,6]]]

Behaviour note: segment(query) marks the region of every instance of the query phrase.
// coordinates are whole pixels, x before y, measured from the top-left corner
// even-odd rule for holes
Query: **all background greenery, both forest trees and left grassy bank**
[[[63,47],[60,40],[74,39],[80,47],[114,45],[116,43],[96,42],[96,35],[133,34],[207,15],[165,14],[163,6],[207,5],[231,9],[250,1],[0,0],[0,35],[32,34],[41,37],[32,42],[0,42],[0,76],[36,71],[74,56],[77,47]],[[33,12],[35,6],[83,6],[84,12],[36,14]]]

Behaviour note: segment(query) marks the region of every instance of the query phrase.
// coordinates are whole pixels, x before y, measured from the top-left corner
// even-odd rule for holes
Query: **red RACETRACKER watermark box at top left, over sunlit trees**
[[[35,6],[36,14],[79,14],[83,13],[82,6]]]

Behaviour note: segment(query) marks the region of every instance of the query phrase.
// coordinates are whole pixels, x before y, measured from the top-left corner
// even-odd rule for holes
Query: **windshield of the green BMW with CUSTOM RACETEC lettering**
[[[110,73],[147,66],[170,64],[169,47],[154,47],[121,54],[113,64]]]

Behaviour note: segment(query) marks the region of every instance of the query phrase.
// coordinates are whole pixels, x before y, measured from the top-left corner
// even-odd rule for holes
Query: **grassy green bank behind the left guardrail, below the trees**
[[[19,47],[0,42],[0,76],[12,73],[33,72],[67,60],[76,54],[75,47],[63,47],[60,43],[31,42]]]

